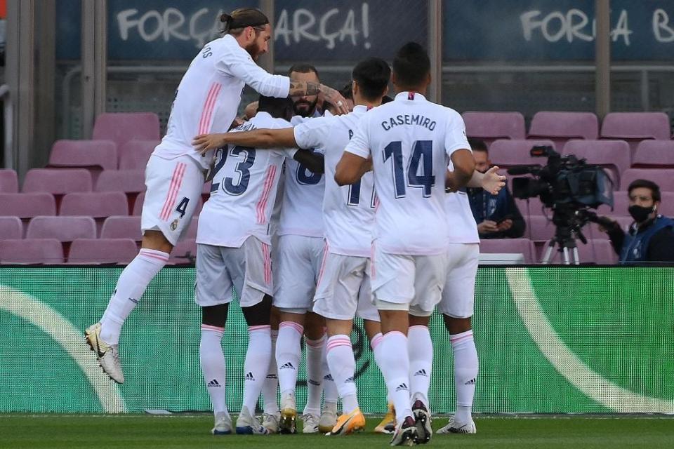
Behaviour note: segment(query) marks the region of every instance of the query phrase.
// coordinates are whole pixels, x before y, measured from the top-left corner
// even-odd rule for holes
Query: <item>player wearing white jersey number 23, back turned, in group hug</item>
[[[260,97],[259,111],[235,132],[257,127],[282,128],[290,123],[289,100]],[[249,347],[244,364],[244,403],[237,434],[267,434],[255,406],[271,357],[270,308],[272,294],[270,216],[286,157],[312,163],[306,150],[259,150],[228,145],[218,149],[211,198],[199,215],[195,300],[202,308],[199,358],[216,415],[214,433],[225,433],[229,422],[225,405],[225,357],[221,340],[232,288],[239,295],[248,324]],[[322,170],[322,159],[312,168]],[[231,427],[229,427],[231,429]]]

